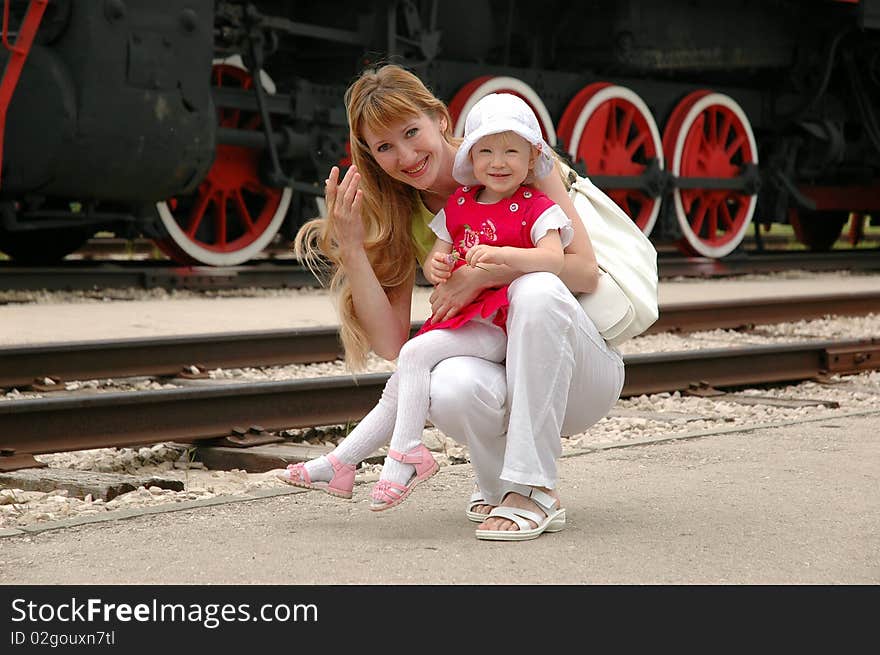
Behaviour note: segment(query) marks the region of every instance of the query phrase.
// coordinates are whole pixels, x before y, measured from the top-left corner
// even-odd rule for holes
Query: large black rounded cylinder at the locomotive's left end
[[[212,5],[72,3],[12,97],[4,192],[155,201],[191,190],[215,151]]]

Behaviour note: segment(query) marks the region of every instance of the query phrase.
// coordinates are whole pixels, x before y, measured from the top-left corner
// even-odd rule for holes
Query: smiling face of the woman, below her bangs
[[[376,163],[388,175],[416,189],[430,189],[444,167],[452,168],[444,130],[445,118],[419,114],[388,128],[365,126],[363,136]]]

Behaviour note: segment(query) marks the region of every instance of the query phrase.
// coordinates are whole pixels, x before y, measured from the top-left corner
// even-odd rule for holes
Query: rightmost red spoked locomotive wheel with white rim
[[[663,132],[663,152],[676,177],[733,178],[758,163],[748,117],[729,96],[708,90],[687,95],[673,110]],[[757,196],[730,189],[672,192],[675,214],[688,254],[724,257],[745,236]]]

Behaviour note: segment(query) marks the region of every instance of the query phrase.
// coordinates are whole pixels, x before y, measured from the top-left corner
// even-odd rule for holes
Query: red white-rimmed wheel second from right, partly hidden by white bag
[[[572,161],[583,161],[587,175],[639,176],[651,160],[663,168],[663,143],[657,123],[635,92],[610,82],[581,89],[562,113],[558,135]],[[650,234],[661,198],[639,189],[603,189]]]

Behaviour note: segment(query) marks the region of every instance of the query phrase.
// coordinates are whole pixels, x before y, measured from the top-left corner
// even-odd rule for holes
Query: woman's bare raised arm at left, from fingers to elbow
[[[352,166],[341,182],[338,178],[339,169],[334,166],[325,191],[327,218],[339,246],[340,265],[351,285],[354,312],[373,351],[384,359],[395,359],[409,338],[415,270],[403,284],[385,292],[364,249],[360,175]]]

